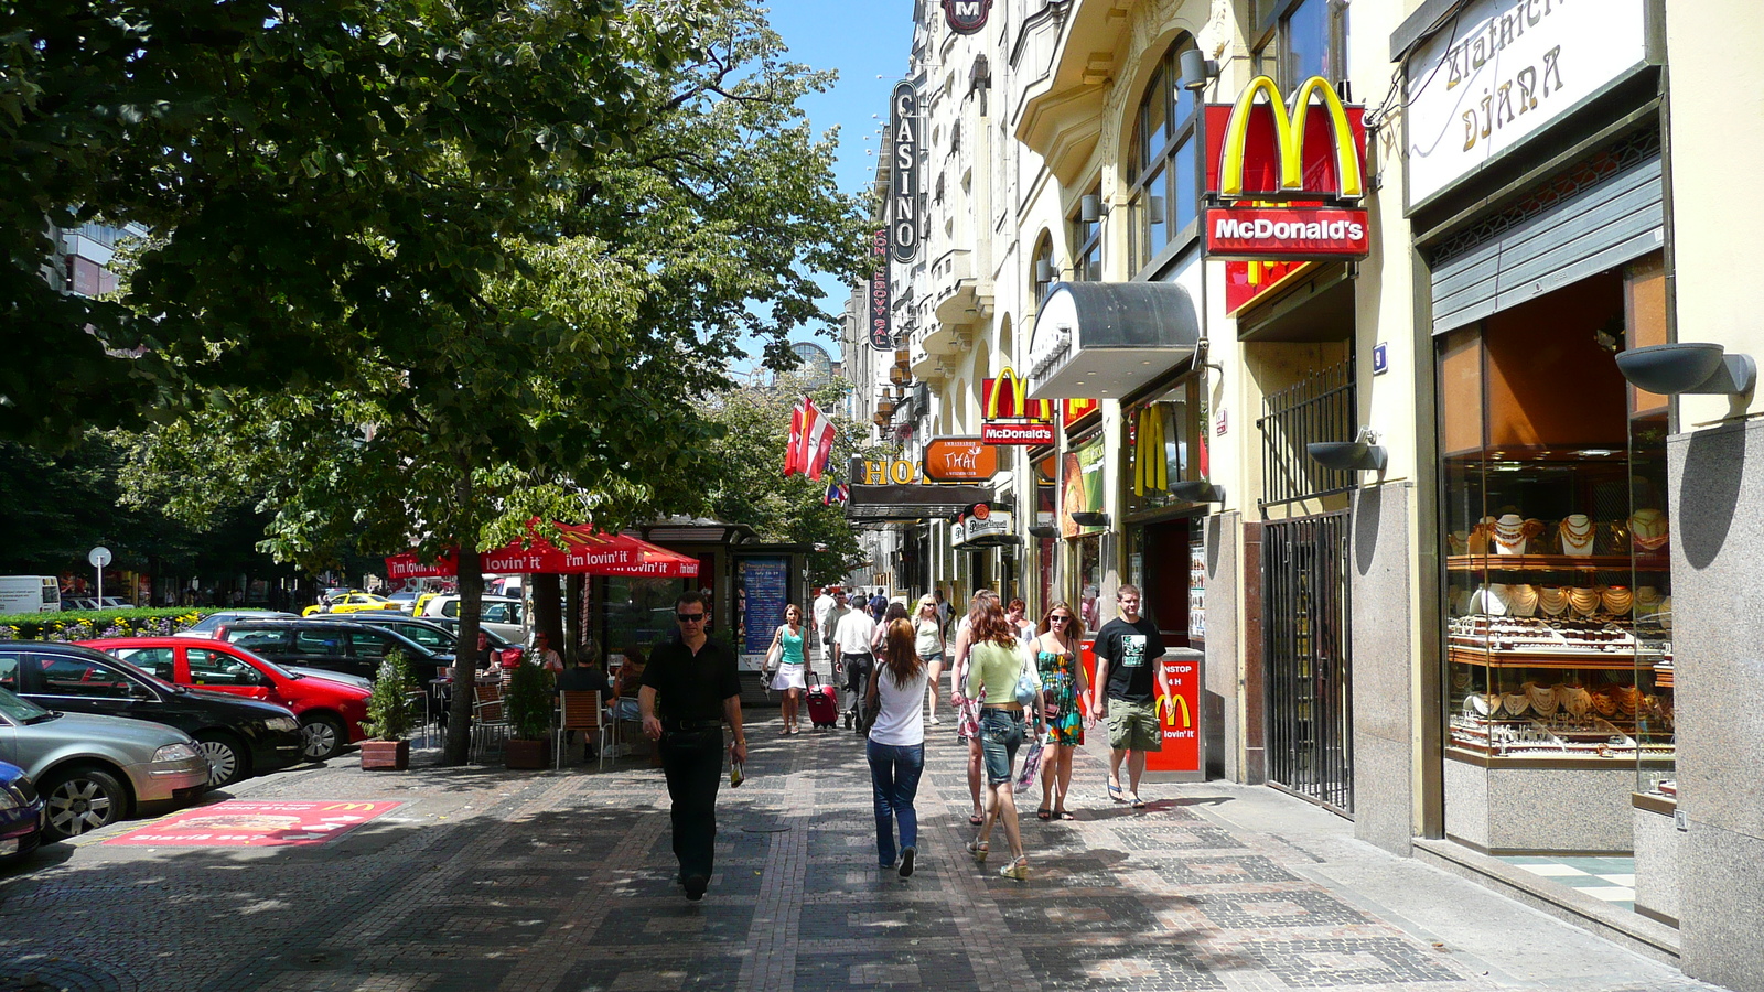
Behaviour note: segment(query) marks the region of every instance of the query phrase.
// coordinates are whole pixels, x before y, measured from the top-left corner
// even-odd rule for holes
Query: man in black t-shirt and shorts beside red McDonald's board
[[[1117,803],[1140,800],[1145,755],[1164,748],[1164,731],[1157,725],[1157,697],[1170,694],[1164,674],[1164,637],[1157,623],[1140,616],[1140,588],[1122,586],[1115,593],[1120,616],[1097,630],[1097,678],[1090,695],[1090,722],[1108,718],[1108,794]],[[1154,685],[1155,683],[1155,685]],[[1122,794],[1120,763],[1127,759],[1129,791]]]

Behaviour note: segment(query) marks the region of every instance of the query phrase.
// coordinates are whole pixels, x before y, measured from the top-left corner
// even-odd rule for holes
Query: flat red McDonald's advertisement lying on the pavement
[[[300,847],[328,844],[399,805],[397,801],[349,800],[309,803],[228,800],[138,826],[104,844],[123,847]]]

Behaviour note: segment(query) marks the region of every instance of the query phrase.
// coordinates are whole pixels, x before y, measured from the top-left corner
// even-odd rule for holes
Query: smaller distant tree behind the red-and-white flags
[[[711,443],[718,468],[707,498],[711,515],[741,521],[762,540],[815,545],[817,551],[808,556],[808,581],[826,586],[838,582],[864,558],[845,508],[826,503],[827,485],[845,477],[847,457],[875,452],[861,441],[864,431],[840,413],[852,385],[836,380],[810,392],[838,432],[827,477],[820,482],[806,475],[780,478],[790,408],[804,395],[797,385],[787,374],[774,387],[725,390],[704,404],[706,418],[721,429]]]

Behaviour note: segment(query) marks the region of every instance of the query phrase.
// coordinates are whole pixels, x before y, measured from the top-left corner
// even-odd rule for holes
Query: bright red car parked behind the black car
[[[325,761],[360,741],[369,690],[288,669],[224,641],[111,637],[81,641],[176,685],[288,706],[300,718],[307,761]]]

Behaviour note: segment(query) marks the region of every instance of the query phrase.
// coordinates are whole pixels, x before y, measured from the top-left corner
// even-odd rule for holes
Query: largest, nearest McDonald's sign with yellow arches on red
[[[1205,221],[1208,258],[1365,258],[1364,116],[1321,76],[1300,83],[1289,109],[1268,76],[1251,79],[1235,104],[1208,104],[1207,191],[1217,203]]]

